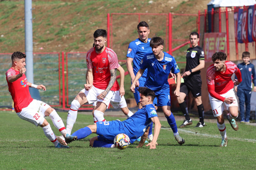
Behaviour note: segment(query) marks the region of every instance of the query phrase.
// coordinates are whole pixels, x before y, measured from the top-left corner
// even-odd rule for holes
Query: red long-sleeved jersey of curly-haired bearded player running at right
[[[208,92],[212,97],[220,101],[224,101],[225,97],[220,96],[219,94],[227,93],[234,87],[233,81],[231,79],[233,73],[238,77],[238,82],[242,81],[242,76],[240,69],[237,68],[233,62],[225,62],[226,71],[220,72],[215,71],[215,68],[210,65],[207,69],[207,87]]]

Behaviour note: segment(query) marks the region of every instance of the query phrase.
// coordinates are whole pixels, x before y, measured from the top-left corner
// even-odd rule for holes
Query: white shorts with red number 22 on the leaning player
[[[27,107],[23,108],[21,112],[17,113],[17,115],[21,119],[28,121],[35,126],[40,126],[44,121],[44,112],[49,107],[51,106],[42,101],[37,101],[34,99]]]

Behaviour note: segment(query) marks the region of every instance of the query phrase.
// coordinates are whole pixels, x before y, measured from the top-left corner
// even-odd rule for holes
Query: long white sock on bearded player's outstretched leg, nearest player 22
[[[77,118],[77,110],[80,108],[80,103],[77,100],[71,102],[71,106],[68,112],[68,117],[66,118],[66,133],[71,135],[74,123]]]

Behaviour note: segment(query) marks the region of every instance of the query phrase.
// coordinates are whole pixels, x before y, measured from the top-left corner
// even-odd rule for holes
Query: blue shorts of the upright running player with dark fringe
[[[171,106],[170,89],[165,88],[155,92],[155,99],[157,99],[157,106],[169,105]],[[155,100],[154,100],[155,104]]]

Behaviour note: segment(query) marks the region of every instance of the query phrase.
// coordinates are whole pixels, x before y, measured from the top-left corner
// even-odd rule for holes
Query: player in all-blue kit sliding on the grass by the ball
[[[149,146],[149,149],[155,149],[161,129],[161,124],[153,105],[155,93],[146,87],[140,87],[138,91],[141,94],[140,102],[143,108],[130,116],[130,118],[125,121],[96,122],[96,124],[77,130],[73,135],[80,140],[91,135],[91,133],[97,133],[99,136],[90,140],[91,146],[114,147],[113,140],[115,136],[119,133],[125,133],[129,136],[130,143],[133,143],[141,136],[141,141],[137,147],[142,147],[148,137],[149,125],[153,122],[155,124],[154,137],[151,143],[146,144],[146,146]]]

